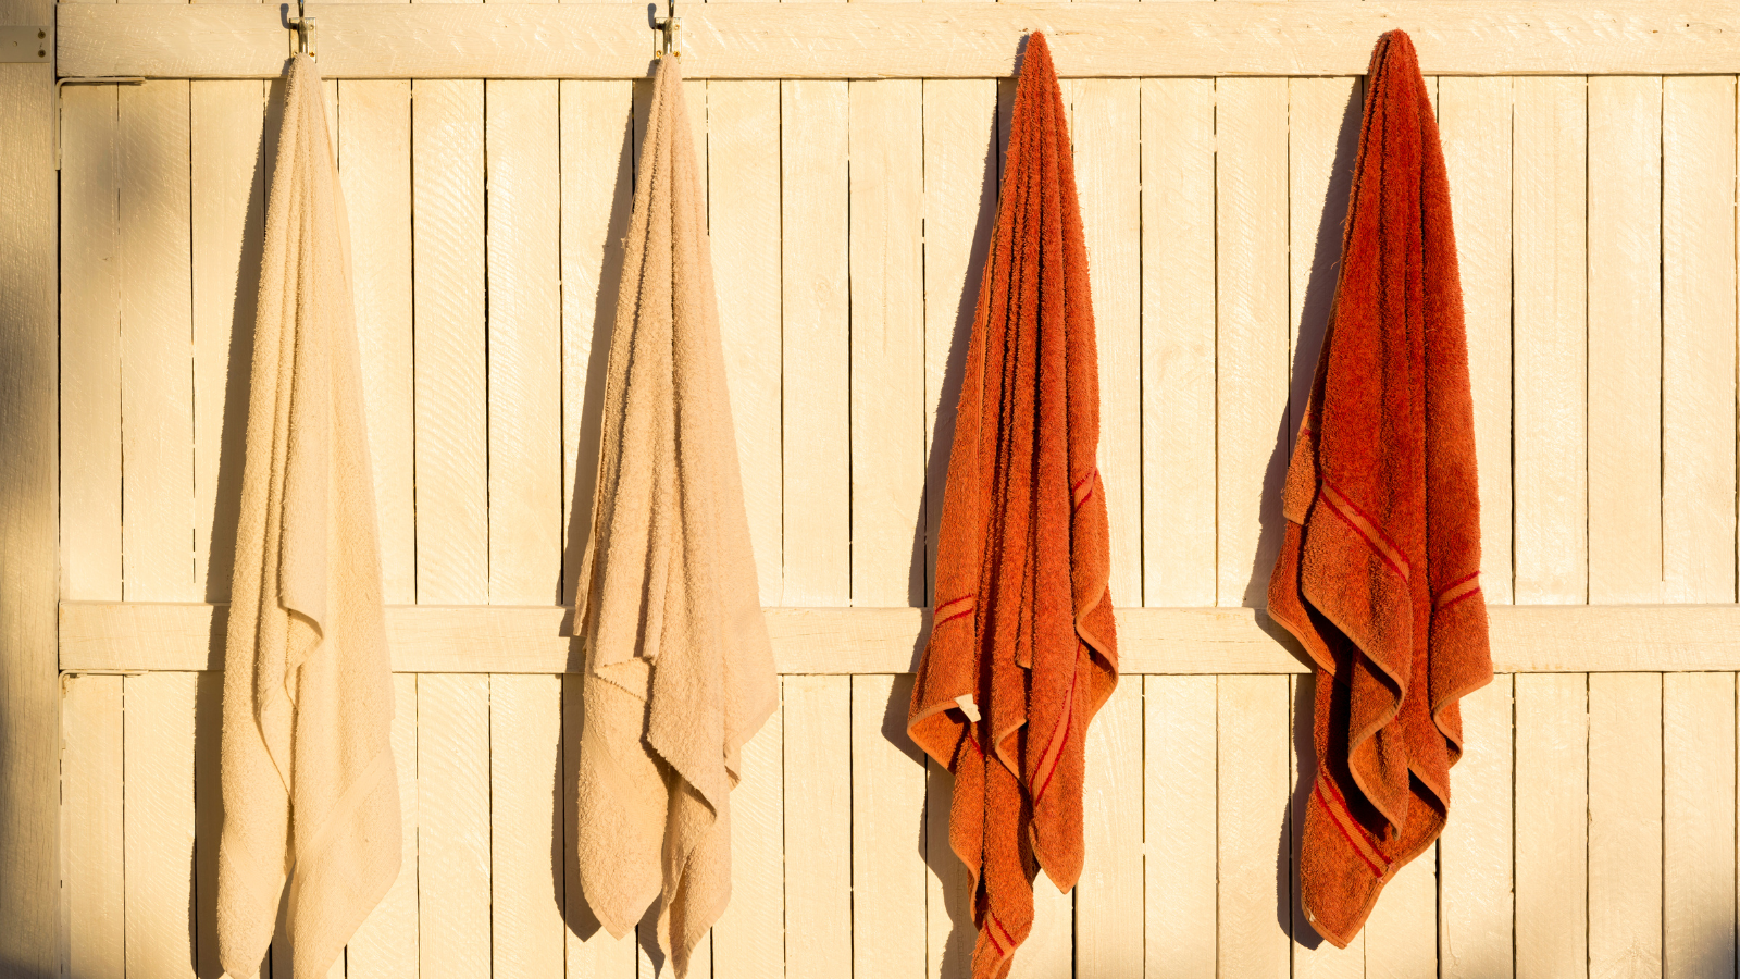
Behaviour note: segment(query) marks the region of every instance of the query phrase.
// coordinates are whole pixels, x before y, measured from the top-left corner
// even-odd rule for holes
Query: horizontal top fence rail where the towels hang
[[[310,3],[327,78],[639,78],[642,3]],[[1404,28],[1429,75],[1740,71],[1740,3],[706,3],[684,5],[689,78],[997,78],[1021,35],[1063,77],[1361,75]],[[59,7],[64,77],[275,78],[292,52],[277,3]]]

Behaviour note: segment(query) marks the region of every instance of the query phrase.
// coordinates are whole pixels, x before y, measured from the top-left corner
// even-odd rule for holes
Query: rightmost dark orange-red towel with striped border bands
[[[1282,507],[1268,611],[1317,667],[1300,901],[1347,946],[1442,831],[1458,700],[1493,676],[1449,185],[1402,31],[1366,75],[1335,310]]]

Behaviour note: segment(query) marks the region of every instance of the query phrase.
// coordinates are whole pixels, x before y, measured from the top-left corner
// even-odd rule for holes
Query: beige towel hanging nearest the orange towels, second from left
[[[579,880],[625,935],[663,897],[677,976],[731,899],[729,794],[780,700],[675,57],[659,63],[581,566]]]

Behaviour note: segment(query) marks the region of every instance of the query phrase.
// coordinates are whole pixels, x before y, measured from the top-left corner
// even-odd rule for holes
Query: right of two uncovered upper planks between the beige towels
[[[562,258],[557,82],[487,82],[489,601],[562,578]]]

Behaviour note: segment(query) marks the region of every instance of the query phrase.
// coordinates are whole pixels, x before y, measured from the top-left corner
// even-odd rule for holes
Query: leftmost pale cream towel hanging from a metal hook
[[[280,897],[294,977],[324,977],[398,876],[381,615],[345,207],[320,73],[289,71],[254,326],[223,690],[218,955],[249,977]]]

